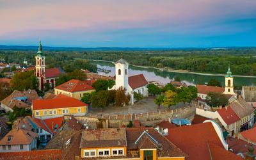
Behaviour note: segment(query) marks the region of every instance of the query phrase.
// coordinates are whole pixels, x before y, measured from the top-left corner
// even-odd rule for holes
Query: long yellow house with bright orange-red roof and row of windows
[[[36,118],[53,118],[65,115],[83,116],[88,112],[88,104],[80,100],[58,95],[54,99],[33,100],[31,110]]]

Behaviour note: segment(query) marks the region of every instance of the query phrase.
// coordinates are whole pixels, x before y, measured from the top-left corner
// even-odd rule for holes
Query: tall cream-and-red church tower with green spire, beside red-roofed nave
[[[42,44],[41,40],[39,41],[38,51],[36,58],[36,66],[35,66],[35,74],[39,81],[39,89],[42,90],[44,88],[44,77],[45,77],[45,56],[42,52]]]

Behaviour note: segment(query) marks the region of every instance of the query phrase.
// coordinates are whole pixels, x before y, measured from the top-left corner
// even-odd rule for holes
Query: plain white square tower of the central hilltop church
[[[116,90],[121,86],[126,89],[126,92],[129,90],[128,84],[128,67],[129,64],[123,58],[116,61]]]

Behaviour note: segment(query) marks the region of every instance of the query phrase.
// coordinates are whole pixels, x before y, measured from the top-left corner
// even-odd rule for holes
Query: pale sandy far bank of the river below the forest
[[[113,61],[106,61],[106,60],[89,60],[89,61],[104,61],[115,64]],[[132,65],[132,64],[129,64]],[[141,65],[132,65],[134,67],[141,67],[141,68],[154,68],[160,71],[167,71],[167,72],[174,72],[174,73],[182,73],[182,74],[195,74],[195,75],[201,75],[201,76],[225,76],[225,74],[209,74],[209,73],[200,73],[200,72],[189,72],[188,70],[173,70],[172,68],[164,67],[149,67],[149,66],[141,66]],[[234,77],[251,77],[256,78],[256,76],[240,76],[240,75],[233,75]]]

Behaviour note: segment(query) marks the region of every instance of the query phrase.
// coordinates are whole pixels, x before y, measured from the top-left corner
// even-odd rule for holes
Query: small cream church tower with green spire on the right
[[[232,72],[230,71],[230,66],[228,65],[227,75],[225,76],[225,91],[223,94],[226,95],[236,95],[234,92],[234,84],[233,84],[234,77],[232,76]]]

